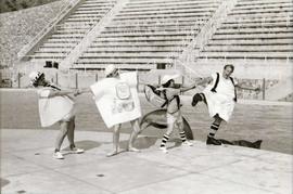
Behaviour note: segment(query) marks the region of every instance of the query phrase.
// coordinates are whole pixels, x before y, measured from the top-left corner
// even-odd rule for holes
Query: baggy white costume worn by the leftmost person
[[[42,88],[38,90],[39,95],[39,116],[42,127],[49,127],[53,124],[73,115],[74,102],[66,95],[49,98],[52,88]]]

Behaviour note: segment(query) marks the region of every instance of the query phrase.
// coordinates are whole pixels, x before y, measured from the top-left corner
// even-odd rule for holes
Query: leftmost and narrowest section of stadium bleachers
[[[25,57],[33,63],[63,61],[115,3],[115,0],[79,0]]]

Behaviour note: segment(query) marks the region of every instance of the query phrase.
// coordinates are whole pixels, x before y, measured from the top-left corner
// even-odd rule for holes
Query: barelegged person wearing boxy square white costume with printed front
[[[137,91],[137,73],[119,74],[114,65],[105,68],[105,77],[81,92],[92,92],[97,107],[107,128],[113,127],[113,151],[106,156],[119,153],[119,130],[123,122],[130,121],[130,133],[127,151],[139,152],[133,146],[140,132],[138,119],[141,117],[140,101]]]

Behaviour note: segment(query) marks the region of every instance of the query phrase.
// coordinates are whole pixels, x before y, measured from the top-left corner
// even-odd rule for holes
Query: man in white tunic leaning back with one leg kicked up
[[[259,88],[244,87],[239,85],[231,74],[234,70],[234,66],[231,64],[225,65],[221,74],[216,73],[211,77],[203,79],[198,85],[208,82],[209,85],[204,89],[202,93],[196,93],[192,100],[192,106],[195,106],[198,102],[203,101],[207,104],[209,116],[215,118],[211,126],[211,131],[207,135],[206,144],[220,145],[220,141],[215,139],[215,134],[219,129],[222,120],[229,121],[234,105],[237,102],[235,87],[244,90],[258,91]]]

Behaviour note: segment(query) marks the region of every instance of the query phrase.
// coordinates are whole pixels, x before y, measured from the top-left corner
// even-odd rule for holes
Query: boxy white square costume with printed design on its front
[[[90,87],[107,128],[141,117],[137,73],[124,73],[119,77],[105,78]]]

